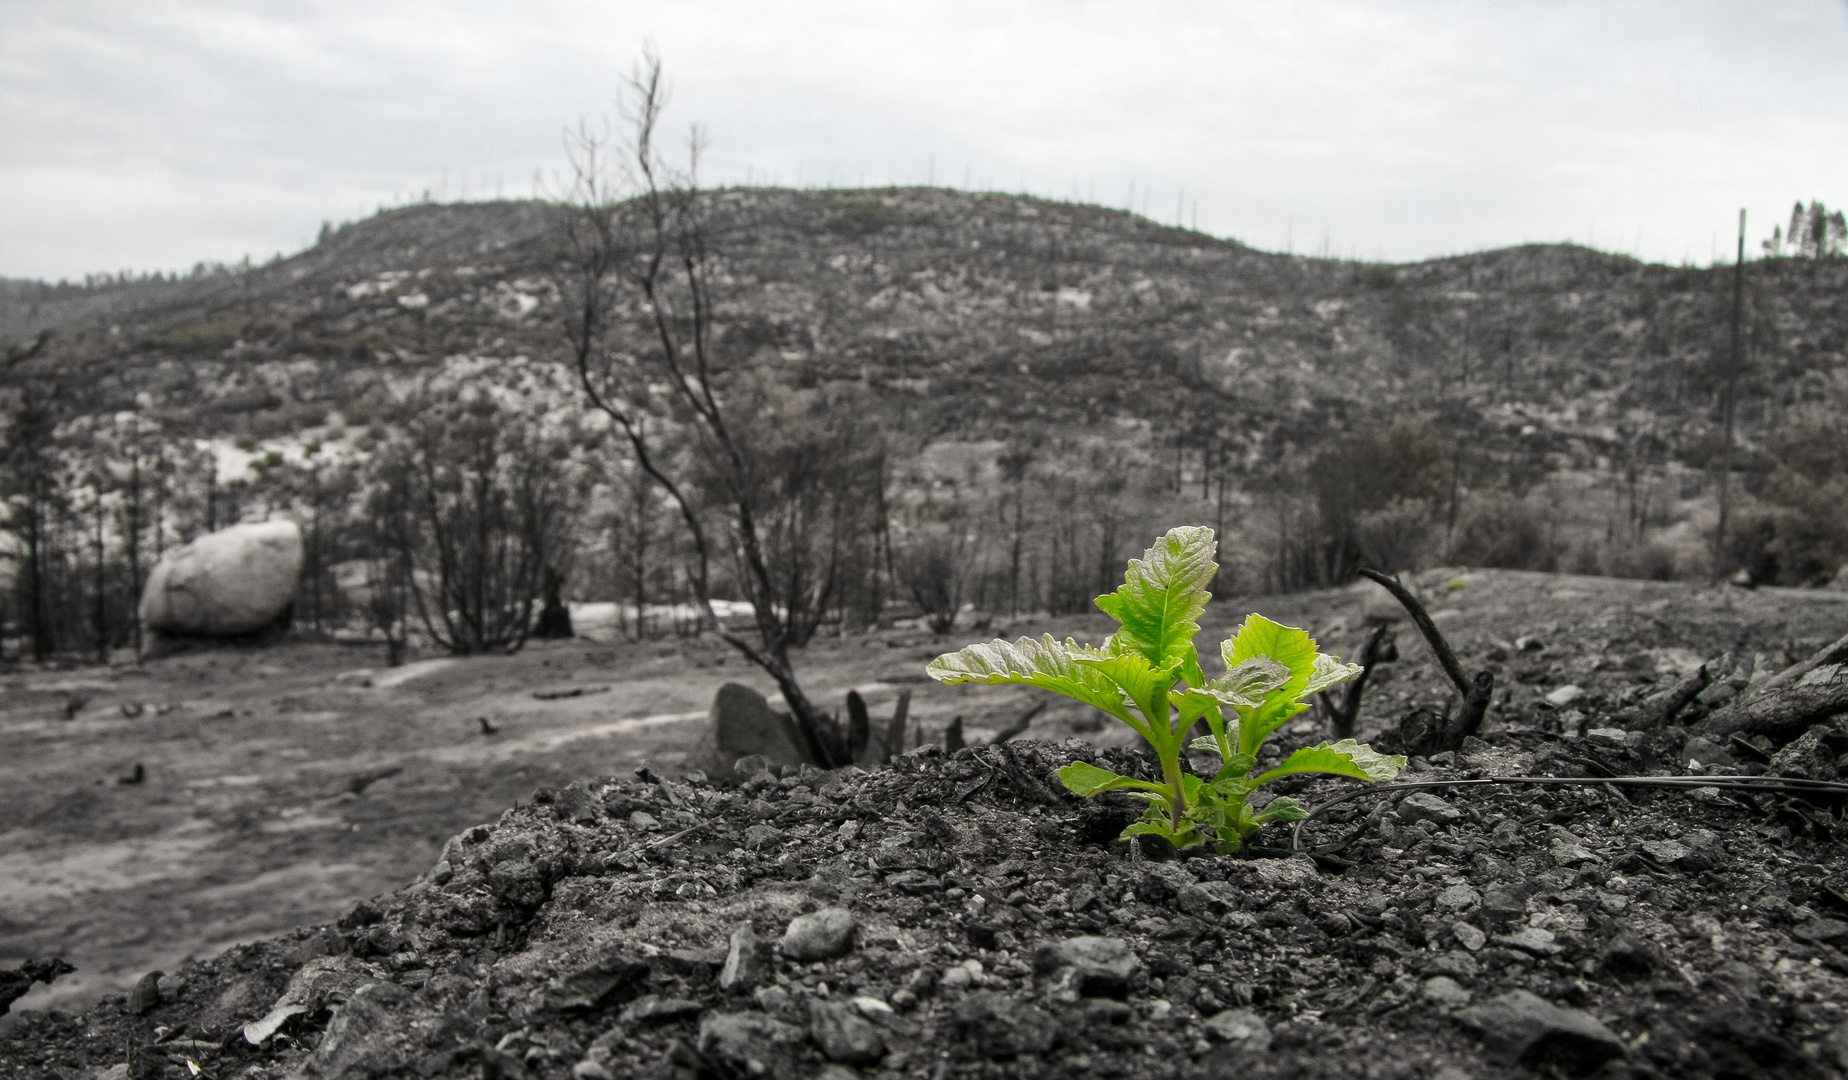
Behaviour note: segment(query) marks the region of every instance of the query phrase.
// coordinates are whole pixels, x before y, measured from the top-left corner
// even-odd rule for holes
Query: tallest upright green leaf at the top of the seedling
[[[1214,560],[1220,546],[1212,538],[1212,529],[1205,525],[1181,525],[1170,529],[1166,536],[1131,558],[1124,573],[1124,584],[1111,594],[1098,597],[1098,607],[1122,623],[1111,636],[1107,651],[1140,653],[1155,668],[1168,668],[1181,662],[1188,668],[1194,655],[1194,634],[1199,632],[1199,616],[1207,610],[1212,594],[1207,583],[1218,573]],[[1199,662],[1192,662],[1192,675]]]

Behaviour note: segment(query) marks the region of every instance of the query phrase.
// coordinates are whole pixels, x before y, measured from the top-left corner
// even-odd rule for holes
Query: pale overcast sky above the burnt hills
[[[708,183],[1026,190],[1268,250],[1665,263],[1848,203],[1848,2],[6,0],[0,276],[530,196],[654,43]]]

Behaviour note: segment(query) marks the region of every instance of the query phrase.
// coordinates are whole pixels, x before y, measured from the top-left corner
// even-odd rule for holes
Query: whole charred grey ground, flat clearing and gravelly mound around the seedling
[[[1685,727],[1611,718],[1730,655],[1698,714],[1728,677],[1848,631],[1848,595],[1828,592],[1417,586],[1499,690],[1478,740],[1403,782],[1687,773]],[[1369,584],[1220,599],[1201,644],[1260,610],[1353,649],[1382,601]],[[920,681],[979,636],[811,645],[815,699],[857,688],[878,718],[911,690],[924,745],[728,786],[680,764],[719,684],[767,686],[697,640],[370,671],[303,644],[11,671],[0,956],[78,971],[0,1021],[0,1076],[1848,1071],[1839,801],[1384,786],[1240,856],[1172,858],[1114,840],[1127,799],[1052,775],[1155,775],[1127,730],[1061,701],[985,745],[1033,692]],[[1399,651],[1362,738],[1453,697],[1410,627]],[[944,753],[955,716],[972,745]],[[1325,736],[1308,712],[1273,753]],[[1698,767],[1833,779],[1842,738],[1831,721]],[[1355,793],[1290,784],[1310,808]]]

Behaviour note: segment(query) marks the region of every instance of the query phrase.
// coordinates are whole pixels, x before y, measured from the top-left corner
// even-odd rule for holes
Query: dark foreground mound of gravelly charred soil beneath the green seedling
[[[1639,771],[1650,749],[1667,747],[1510,732],[1456,767]],[[1310,823],[1305,843],[1362,830],[1319,867],[1155,862],[1109,840],[1133,806],[1050,782],[1074,756],[1153,767],[1074,740],[743,790],[541,792],[336,927],[78,1017],[17,1017],[0,1074],[1842,1073],[1848,925],[1831,906],[1848,878],[1824,812],[1471,788],[1397,793],[1369,821],[1380,792]],[[784,938],[828,908],[852,914],[850,938],[839,914]],[[1127,952],[1053,949],[1087,936]],[[244,1025],[279,999],[305,1012],[251,1045]]]

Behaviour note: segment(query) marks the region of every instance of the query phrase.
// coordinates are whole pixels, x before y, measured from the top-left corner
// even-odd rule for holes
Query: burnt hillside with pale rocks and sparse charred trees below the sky
[[[976,608],[1083,608],[1146,520],[1212,522],[1225,573],[1258,590],[1358,562],[1711,573],[1728,268],[1573,246],[1345,263],[939,189],[708,198],[724,377],[876,431],[893,527],[974,536]],[[220,485],[310,446],[357,460],[423,375],[564,359],[556,213],[414,205],[259,268],[6,283],[0,338],[55,331],[9,381],[57,385],[74,444],[83,416],[135,411]],[[1748,266],[1726,571],[1826,584],[1848,560],[1844,287],[1841,259]],[[582,411],[567,385],[540,396]],[[174,540],[288,497],[181,492]],[[1037,547],[1005,557],[998,531]],[[578,560],[571,595],[626,599],[608,566]],[[662,573],[654,595],[684,588]]]

